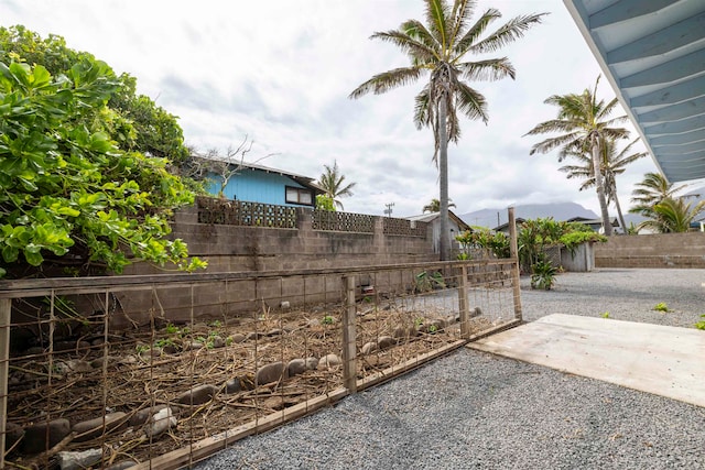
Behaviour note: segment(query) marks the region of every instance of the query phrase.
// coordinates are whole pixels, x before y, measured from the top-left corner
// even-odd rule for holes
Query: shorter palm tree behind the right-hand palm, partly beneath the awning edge
[[[621,205],[619,204],[619,197],[617,195],[617,175],[625,173],[627,165],[647,155],[647,152],[638,152],[628,154],[632,145],[636,144],[639,139],[636,139],[625,146],[621,152],[617,153],[617,145],[614,141],[606,140],[601,149],[601,171],[605,176],[605,193],[607,197],[607,204],[615,203],[617,208],[617,215],[619,216],[619,223],[621,223],[625,233],[627,232],[627,225],[625,222],[625,216],[621,211]],[[588,189],[595,186],[595,172],[593,171],[593,159],[588,153],[576,152],[571,156],[578,160],[579,164],[565,165],[558,170],[567,173],[567,178],[584,178],[585,182],[581,185],[579,190]]]

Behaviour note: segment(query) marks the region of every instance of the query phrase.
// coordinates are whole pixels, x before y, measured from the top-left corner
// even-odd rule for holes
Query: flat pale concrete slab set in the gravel
[[[555,314],[467,347],[705,407],[705,331]]]

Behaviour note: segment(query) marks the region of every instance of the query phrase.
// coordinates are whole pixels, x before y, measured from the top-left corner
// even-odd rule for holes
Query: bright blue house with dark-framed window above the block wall
[[[307,176],[245,162],[238,163],[237,167],[237,173],[223,190],[227,199],[313,208],[316,206],[316,195],[324,194],[313,183],[314,178]],[[209,173],[206,178],[206,190],[218,195],[223,177]]]

